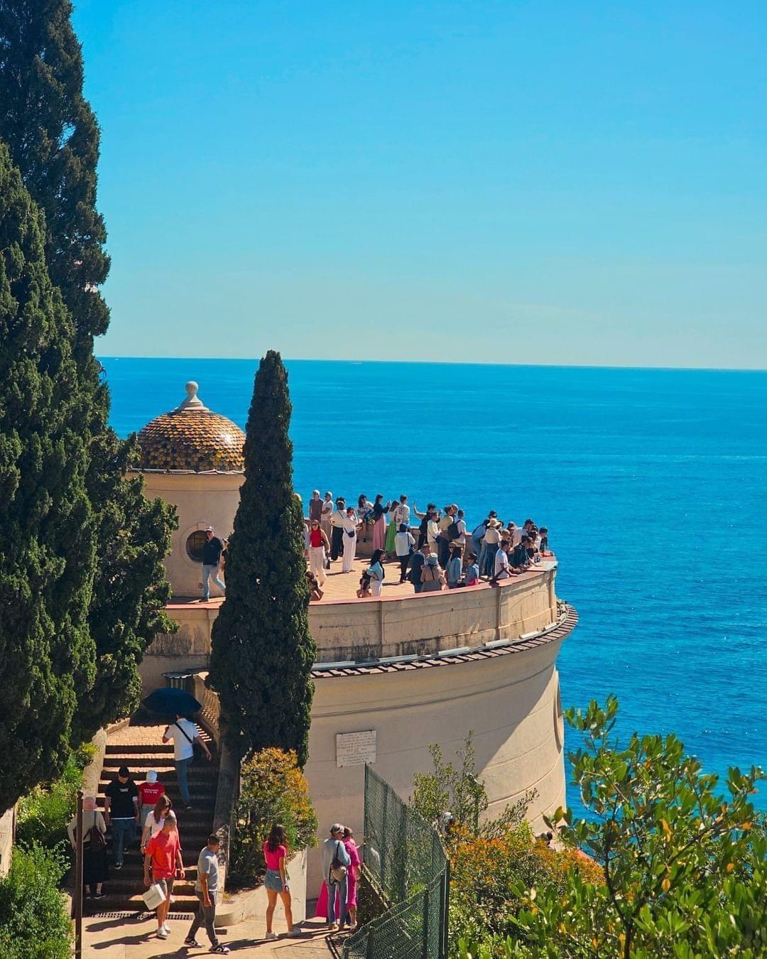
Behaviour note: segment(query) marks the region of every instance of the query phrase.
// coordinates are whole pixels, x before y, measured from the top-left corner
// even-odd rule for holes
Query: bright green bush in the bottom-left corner
[[[0,879],[0,955],[3,959],[69,959],[72,924],[58,891],[67,868],[39,846],[14,849],[11,871]]]

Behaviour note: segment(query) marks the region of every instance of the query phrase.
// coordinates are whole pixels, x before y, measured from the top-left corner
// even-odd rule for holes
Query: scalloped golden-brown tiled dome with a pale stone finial
[[[151,420],[138,434],[142,470],[242,473],[245,434],[231,420],[202,405],[198,385],[186,385],[187,399]]]

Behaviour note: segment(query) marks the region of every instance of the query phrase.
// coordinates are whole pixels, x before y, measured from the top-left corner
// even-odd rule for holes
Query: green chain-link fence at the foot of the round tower
[[[364,873],[389,908],[350,936],[344,959],[445,959],[450,864],[439,836],[365,766]]]

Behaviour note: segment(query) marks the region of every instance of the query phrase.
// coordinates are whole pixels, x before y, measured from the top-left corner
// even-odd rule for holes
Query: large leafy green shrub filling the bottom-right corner
[[[724,798],[675,736],[635,734],[620,748],[616,713],[615,697],[567,713],[585,737],[570,760],[593,818],[560,809],[552,823],[593,855],[603,882],[573,874],[564,895],[529,889],[513,954],[765,955],[767,840],[749,800],[761,770],[731,769]]]

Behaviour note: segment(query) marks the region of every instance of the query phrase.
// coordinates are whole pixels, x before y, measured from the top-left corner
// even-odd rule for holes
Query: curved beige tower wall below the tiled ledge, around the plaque
[[[315,683],[309,780],[320,835],[333,822],[362,833],[362,766],[337,768],[337,733],[376,730],[373,766],[407,800],[413,775],[432,768],[431,743],[453,759],[474,730],[476,769],[497,815],[530,788],[534,829],[542,816],[565,805],[565,769],[556,711],[561,640],[494,659],[372,676],[335,676]],[[310,852],[307,895],[321,881]]]

